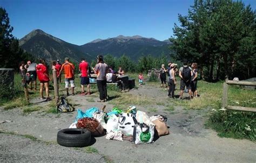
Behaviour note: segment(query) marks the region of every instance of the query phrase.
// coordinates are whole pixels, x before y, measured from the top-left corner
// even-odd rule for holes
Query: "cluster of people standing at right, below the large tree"
[[[186,89],[188,90],[189,99],[192,97],[197,97],[197,77],[198,77],[198,65],[197,63],[192,63],[191,67],[188,66],[188,62],[185,60],[183,66],[177,68],[176,63],[171,61],[168,63],[168,69],[165,68],[165,65],[161,65],[159,78],[161,80],[161,87],[166,86],[166,73],[168,76],[168,85],[169,91],[168,96],[174,98],[174,90],[177,84],[176,75],[180,77],[180,96],[179,98],[183,99],[183,92]]]

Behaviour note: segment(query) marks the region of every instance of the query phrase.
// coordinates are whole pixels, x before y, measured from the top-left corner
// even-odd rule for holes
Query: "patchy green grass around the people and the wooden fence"
[[[129,74],[130,77],[136,79],[136,85],[138,86],[138,74]],[[148,82],[146,74],[144,74],[144,79],[147,86],[159,87],[160,82],[154,81]],[[76,83],[76,94],[80,93],[79,81],[77,77],[75,79]],[[64,80],[63,80],[64,81]],[[176,86],[176,95],[179,95],[179,79]],[[38,82],[39,83],[39,82]],[[52,82],[50,81],[51,87]],[[60,84],[60,95],[65,95],[65,84],[64,82]],[[39,90],[39,84],[37,89]],[[137,89],[137,88],[136,88]],[[109,102],[115,107],[120,109],[125,109],[127,106],[134,105],[145,105],[150,106],[154,104],[156,99],[146,95],[130,95],[125,94],[114,86],[107,86],[108,94],[112,96],[112,100]],[[90,98],[86,99],[89,102],[94,102],[93,97],[98,97],[98,89],[96,84],[91,84],[91,91],[93,94]],[[206,81],[198,81],[198,94],[200,97],[193,98],[192,100],[178,100],[170,99],[167,97],[167,91],[161,89],[163,94],[166,94],[166,99],[158,99],[157,105],[163,103],[172,103],[172,107],[166,107],[166,111],[172,112],[176,106],[183,107],[186,110],[211,110],[208,114],[209,121],[207,122],[207,127],[212,127],[216,130],[221,137],[232,137],[232,138],[248,138],[251,140],[256,139],[256,114],[252,112],[241,112],[241,111],[228,111],[225,108],[221,108],[221,97],[223,94],[223,81],[217,83],[208,83]],[[50,96],[54,97],[54,91],[50,89]],[[30,98],[39,98],[39,91],[30,91]],[[31,104],[26,103],[24,98],[23,87],[21,84],[21,76],[15,75],[15,97],[9,100],[8,98],[1,98],[0,105],[3,106],[5,110],[13,108],[23,108],[23,114],[28,114],[32,111],[37,111],[39,108],[33,107]],[[256,108],[256,91],[251,89],[245,89],[239,86],[229,86],[228,89],[228,105],[237,105],[242,107],[254,107]],[[150,109],[150,112],[156,112],[157,109]],[[48,114],[57,114],[55,109],[54,101],[50,102],[46,106],[45,112]]]

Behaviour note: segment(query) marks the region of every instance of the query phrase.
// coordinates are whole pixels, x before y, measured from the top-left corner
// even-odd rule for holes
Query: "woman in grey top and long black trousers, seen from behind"
[[[103,56],[97,56],[97,65],[95,68],[92,68],[97,75],[97,87],[99,90],[99,101],[97,102],[105,102],[107,101],[107,89],[106,89],[106,73],[107,73],[107,64],[103,61]]]

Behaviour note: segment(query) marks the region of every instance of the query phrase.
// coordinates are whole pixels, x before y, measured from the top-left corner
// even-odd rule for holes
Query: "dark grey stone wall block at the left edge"
[[[14,69],[0,68],[0,97],[14,96]]]

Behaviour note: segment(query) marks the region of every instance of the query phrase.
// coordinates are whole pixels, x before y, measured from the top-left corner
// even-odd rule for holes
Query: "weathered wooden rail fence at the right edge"
[[[229,110],[256,112],[256,108],[238,107],[238,106],[233,106],[233,105],[227,105],[227,94],[228,94],[228,85],[229,84],[230,85],[254,86],[254,87],[256,87],[256,82],[227,80],[226,82],[223,83],[222,107],[227,108]]]

